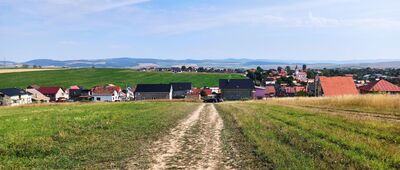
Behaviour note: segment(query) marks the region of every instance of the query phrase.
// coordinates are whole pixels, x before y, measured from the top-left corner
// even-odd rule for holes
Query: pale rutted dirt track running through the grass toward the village
[[[224,163],[222,129],[214,105],[203,104],[145,151],[149,165],[131,162],[127,169],[232,169]]]

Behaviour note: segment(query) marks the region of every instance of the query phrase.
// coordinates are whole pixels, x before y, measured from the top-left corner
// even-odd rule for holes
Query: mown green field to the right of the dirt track
[[[361,101],[375,99],[359,97]],[[338,111],[299,107],[309,99],[283,100],[223,103],[216,107],[225,121],[240,129],[247,143],[253,145],[255,155],[274,169],[400,168],[400,110],[394,110],[398,105],[393,103],[398,100],[368,106],[369,114],[354,111],[364,107],[358,102],[354,107],[338,105]],[[322,103],[337,99],[314,100]],[[346,109],[351,111],[342,112]],[[379,110],[396,114],[386,117]],[[239,148],[249,149],[243,139],[236,141],[243,146]]]

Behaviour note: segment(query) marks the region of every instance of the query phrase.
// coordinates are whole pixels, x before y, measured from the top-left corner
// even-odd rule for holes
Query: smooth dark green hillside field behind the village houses
[[[137,72],[131,69],[86,68],[52,71],[35,71],[0,74],[0,88],[26,88],[40,86],[69,87],[80,85],[91,88],[96,85],[136,85],[139,83],[192,82],[194,87],[218,86],[219,79],[244,78],[239,74]]]

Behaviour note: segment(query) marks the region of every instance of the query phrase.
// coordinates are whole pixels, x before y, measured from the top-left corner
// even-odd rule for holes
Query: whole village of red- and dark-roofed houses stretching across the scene
[[[190,69],[187,69],[190,68]],[[198,68],[182,67],[172,71],[197,71]],[[171,70],[168,70],[171,71]],[[238,70],[237,70],[238,71]],[[247,79],[220,79],[217,87],[193,87],[191,82],[169,84],[137,84],[120,87],[114,84],[91,88],[72,85],[28,85],[25,89],[0,89],[0,106],[18,106],[49,102],[128,102],[146,100],[194,100],[222,102],[229,100],[266,100],[274,97],[321,97],[371,93],[399,94],[400,87],[383,76],[367,80],[354,80],[353,74],[320,76],[307,74],[307,68],[290,67],[271,70],[247,70]],[[371,76],[371,75],[367,75]],[[368,77],[369,78],[369,77]]]

